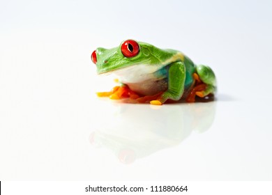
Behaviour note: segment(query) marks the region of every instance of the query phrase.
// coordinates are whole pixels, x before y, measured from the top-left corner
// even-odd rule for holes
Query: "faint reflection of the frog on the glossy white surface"
[[[92,132],[90,141],[93,146],[113,150],[122,163],[130,164],[181,143],[193,130],[208,130],[213,123],[215,107],[216,102],[162,107],[119,104],[118,113],[109,116],[113,120]]]

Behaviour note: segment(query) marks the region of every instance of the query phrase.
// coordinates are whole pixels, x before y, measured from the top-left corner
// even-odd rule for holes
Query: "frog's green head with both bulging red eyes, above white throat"
[[[155,63],[152,49],[153,46],[147,43],[125,40],[112,49],[98,47],[91,54],[91,60],[96,64],[98,74],[110,73],[131,65]]]

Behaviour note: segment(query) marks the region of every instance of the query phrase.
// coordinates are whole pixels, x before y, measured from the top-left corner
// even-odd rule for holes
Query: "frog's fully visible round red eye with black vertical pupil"
[[[132,58],[139,54],[139,44],[135,40],[125,40],[121,45],[123,56]]]

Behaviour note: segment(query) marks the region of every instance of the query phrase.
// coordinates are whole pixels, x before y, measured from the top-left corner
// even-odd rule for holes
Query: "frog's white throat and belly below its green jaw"
[[[132,65],[128,68],[115,70],[121,83],[126,84],[132,91],[142,95],[154,95],[167,89],[166,75],[155,72],[165,65]]]

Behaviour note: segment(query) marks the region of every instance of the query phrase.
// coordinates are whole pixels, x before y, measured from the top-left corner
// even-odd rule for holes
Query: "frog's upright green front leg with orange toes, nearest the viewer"
[[[161,105],[166,100],[179,100],[183,95],[184,83],[186,79],[186,68],[183,62],[171,63],[168,70],[168,88],[157,100],[152,100],[150,104]]]

